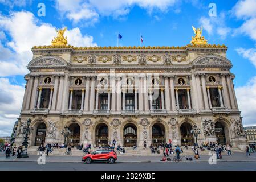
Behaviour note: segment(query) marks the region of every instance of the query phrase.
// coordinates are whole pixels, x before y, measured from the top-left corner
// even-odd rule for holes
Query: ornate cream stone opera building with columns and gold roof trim
[[[32,48],[16,143],[31,118],[30,146],[64,143],[64,127],[74,144],[192,145],[194,126],[199,144],[245,146],[226,46],[73,47],[63,38]]]

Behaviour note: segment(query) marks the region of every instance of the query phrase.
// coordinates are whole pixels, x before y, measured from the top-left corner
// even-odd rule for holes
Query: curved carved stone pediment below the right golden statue
[[[219,55],[204,55],[197,57],[193,63],[197,66],[232,66],[231,62]]]

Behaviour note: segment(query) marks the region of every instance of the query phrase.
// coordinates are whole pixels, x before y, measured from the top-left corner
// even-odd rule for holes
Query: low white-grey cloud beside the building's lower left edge
[[[21,110],[23,86],[11,85],[7,78],[0,78],[0,136],[10,135]]]

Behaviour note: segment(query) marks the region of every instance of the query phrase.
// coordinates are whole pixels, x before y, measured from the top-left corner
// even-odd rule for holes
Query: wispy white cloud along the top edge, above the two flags
[[[93,24],[97,22],[99,16],[119,16],[127,15],[133,6],[137,5],[152,13],[154,9],[160,11],[167,11],[170,6],[173,6],[177,0],[56,0],[56,8],[68,19],[74,23],[80,20],[86,24]]]

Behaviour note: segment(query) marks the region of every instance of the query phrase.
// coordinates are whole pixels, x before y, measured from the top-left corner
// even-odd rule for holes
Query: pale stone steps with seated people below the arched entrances
[[[31,155],[37,155],[37,148],[38,146],[32,146],[28,148],[28,153]],[[136,150],[134,150],[132,147],[124,147],[125,148],[125,153],[123,154],[119,154],[119,151],[115,150],[117,152],[117,155],[119,156],[163,156],[163,152],[160,149],[160,154],[151,153],[151,150],[149,150],[149,148],[143,149],[138,147]],[[186,150],[186,148],[181,147],[183,150],[182,155],[186,156],[186,155],[194,155],[194,152],[191,150],[191,147],[188,147],[188,150]],[[98,150],[98,148],[92,148],[92,151]],[[52,156],[63,156],[64,152],[66,151],[66,148],[58,148],[58,149],[54,149],[54,151],[51,152],[50,155]],[[83,156],[84,153],[82,150],[78,150],[76,148],[72,148],[71,149],[72,152],[72,156]],[[241,150],[239,150],[239,148],[232,148],[232,152],[243,152]],[[174,152],[175,154],[175,152]],[[199,154],[200,155],[208,155],[209,154],[209,150],[205,150],[205,151],[201,151],[199,150]]]

